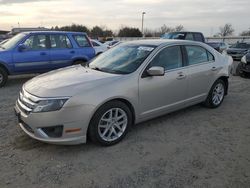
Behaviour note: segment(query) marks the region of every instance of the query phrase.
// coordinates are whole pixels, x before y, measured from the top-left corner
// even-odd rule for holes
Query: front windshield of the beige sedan
[[[155,46],[150,45],[119,45],[99,55],[89,67],[108,73],[129,74],[134,72],[154,49]]]

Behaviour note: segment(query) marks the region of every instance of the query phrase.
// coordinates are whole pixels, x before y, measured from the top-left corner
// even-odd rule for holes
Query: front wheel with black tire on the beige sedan
[[[126,104],[111,101],[101,106],[89,125],[90,139],[103,146],[120,142],[132,125],[132,114]]]

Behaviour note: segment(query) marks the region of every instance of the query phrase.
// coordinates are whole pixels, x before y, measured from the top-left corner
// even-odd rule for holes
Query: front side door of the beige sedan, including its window
[[[148,68],[165,68],[164,76],[139,78],[141,118],[149,118],[183,107],[187,98],[187,72],[183,67],[180,46],[166,47]]]

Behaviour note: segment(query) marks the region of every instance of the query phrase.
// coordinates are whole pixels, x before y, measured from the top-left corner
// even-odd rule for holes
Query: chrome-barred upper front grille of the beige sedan
[[[37,102],[38,100],[36,100],[35,96],[22,89],[17,100],[17,105],[22,112],[29,114],[35,108]]]

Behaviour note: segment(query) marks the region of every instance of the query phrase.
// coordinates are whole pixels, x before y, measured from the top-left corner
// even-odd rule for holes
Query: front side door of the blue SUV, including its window
[[[26,49],[13,54],[15,72],[33,73],[49,70],[50,51],[45,34],[32,34],[25,41]]]

